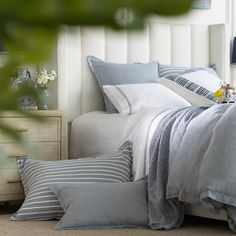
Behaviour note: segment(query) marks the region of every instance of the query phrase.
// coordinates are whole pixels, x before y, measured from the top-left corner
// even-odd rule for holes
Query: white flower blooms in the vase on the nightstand
[[[41,70],[35,75],[36,84],[38,88],[48,88],[53,80],[57,78],[57,73],[55,70],[48,72],[47,70]]]

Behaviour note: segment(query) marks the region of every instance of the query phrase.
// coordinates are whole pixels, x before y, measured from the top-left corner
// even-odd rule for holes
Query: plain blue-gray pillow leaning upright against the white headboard
[[[158,76],[158,63],[117,64],[106,63],[101,59],[88,56],[88,64],[96,77],[100,89],[103,85],[155,83]],[[117,112],[111,101],[103,93],[106,110],[110,113]]]

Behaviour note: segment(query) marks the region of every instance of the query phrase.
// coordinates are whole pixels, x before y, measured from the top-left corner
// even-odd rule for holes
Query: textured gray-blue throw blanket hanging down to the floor
[[[169,169],[188,124],[207,108],[191,107],[173,111],[156,128],[150,146],[148,175],[149,224],[152,229],[170,229],[183,221],[183,204],[175,199],[166,199]]]

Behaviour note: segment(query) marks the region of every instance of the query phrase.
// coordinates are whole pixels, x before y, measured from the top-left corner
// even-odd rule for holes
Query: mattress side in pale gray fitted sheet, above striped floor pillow
[[[71,123],[70,158],[83,158],[116,151],[128,139],[137,116],[102,111],[78,116]]]

